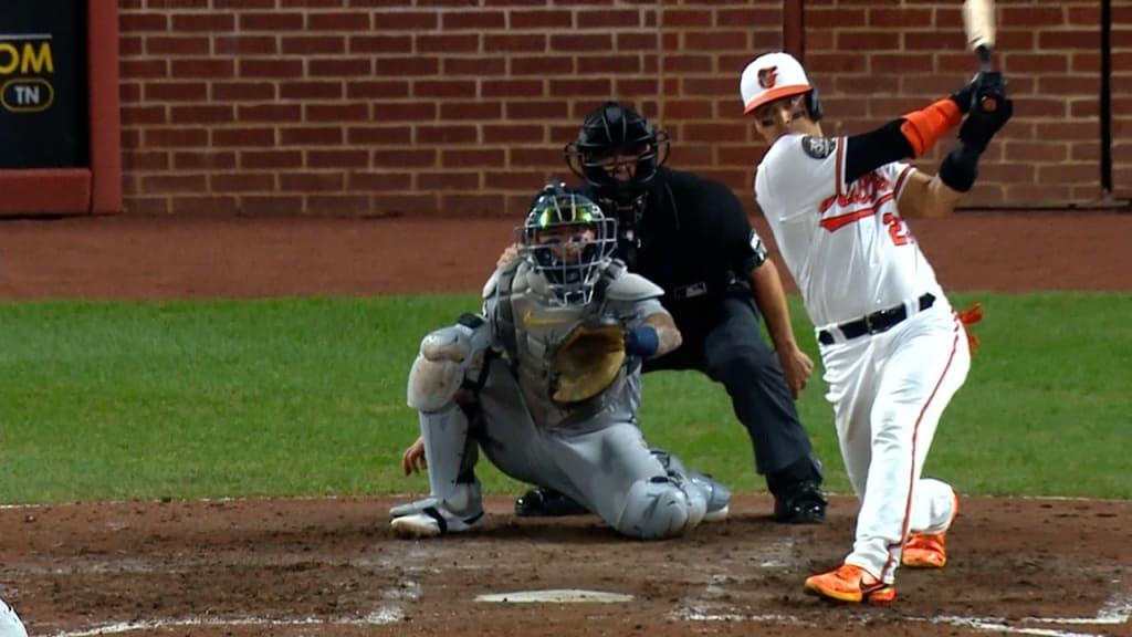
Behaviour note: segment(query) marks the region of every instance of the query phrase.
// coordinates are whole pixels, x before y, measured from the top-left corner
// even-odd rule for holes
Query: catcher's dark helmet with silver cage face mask
[[[565,304],[586,304],[601,265],[617,248],[617,221],[582,194],[551,181],[535,196],[522,228],[521,253]]]

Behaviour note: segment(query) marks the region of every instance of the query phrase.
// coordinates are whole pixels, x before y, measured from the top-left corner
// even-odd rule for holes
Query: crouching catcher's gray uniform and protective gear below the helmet
[[[633,329],[667,313],[662,290],[619,262],[600,264],[601,282],[585,304],[555,303],[530,257],[501,266],[484,287],[483,317],[465,315],[429,334],[410,373],[409,402],[420,410],[431,495],[394,508],[393,528],[430,536],[483,524],[479,485],[471,475],[474,439],[507,475],[560,491],[624,535],[681,534],[726,507],[727,490],[678,461],[666,467],[635,423],[641,358],[624,366],[592,399],[561,405],[551,398],[551,353],[582,323],[616,321]],[[470,389],[464,408],[454,399]],[[468,407],[471,409],[465,409]],[[720,499],[722,498],[722,501]]]

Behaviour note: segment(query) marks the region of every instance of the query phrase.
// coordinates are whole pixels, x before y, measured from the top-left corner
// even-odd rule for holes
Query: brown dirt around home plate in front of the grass
[[[741,495],[730,519],[658,543],[591,516],[515,518],[500,496],[482,532],[406,541],[387,524],[400,501],[7,508],[0,584],[33,635],[57,637],[1132,635],[1125,501],[964,498],[946,568],[903,569],[883,606],[803,591],[848,549],[851,498],[787,526]]]

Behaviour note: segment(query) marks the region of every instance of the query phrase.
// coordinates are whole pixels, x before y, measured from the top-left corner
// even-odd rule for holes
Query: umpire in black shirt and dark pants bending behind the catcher
[[[698,370],[722,383],[774,495],[775,519],[821,523],[821,464],[794,404],[813,363],[795,341],[778,270],[735,194],[663,168],[668,150],[666,133],[616,102],[591,112],[565,148],[584,192],[617,216],[618,256],[664,289],[661,301],[684,336],[679,349],[645,362],[644,372]],[[762,338],[760,309],[777,355]],[[544,489],[515,502],[520,516],[577,509]]]

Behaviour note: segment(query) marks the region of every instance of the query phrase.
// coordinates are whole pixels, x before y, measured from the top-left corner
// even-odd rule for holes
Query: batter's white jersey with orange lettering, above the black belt
[[[847,185],[844,152],[844,137],[783,136],[755,179],[755,196],[818,329],[925,292],[942,296],[897,210],[916,169],[893,162]]]

